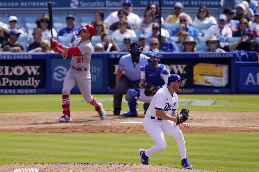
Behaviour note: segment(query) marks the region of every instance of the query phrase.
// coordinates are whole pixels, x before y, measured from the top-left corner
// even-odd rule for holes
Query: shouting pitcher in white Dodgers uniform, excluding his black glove
[[[167,87],[160,88],[154,95],[143,121],[146,132],[154,140],[155,145],[148,150],[139,149],[140,161],[142,164],[149,164],[149,157],[155,153],[162,152],[167,147],[165,135],[175,137],[177,147],[182,159],[181,167],[193,169],[186,156],[185,141],[183,133],[179,129],[176,118],[176,108],[179,106],[178,96],[182,86],[182,80],[177,74],[168,77]],[[189,123],[179,123],[184,129],[189,128]]]

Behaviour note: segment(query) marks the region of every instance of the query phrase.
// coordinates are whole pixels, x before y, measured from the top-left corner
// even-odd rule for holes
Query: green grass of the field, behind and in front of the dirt
[[[112,95],[94,95],[113,110]],[[181,108],[190,111],[259,111],[259,96],[179,95]],[[73,111],[94,110],[81,95],[71,95]],[[61,95],[1,95],[0,112],[61,111]],[[124,102],[123,109],[127,110]],[[138,106],[142,110],[142,104]],[[233,117],[234,118],[234,117]],[[2,117],[4,120],[4,117]],[[244,121],[245,122],[245,121]],[[256,172],[259,133],[185,134],[187,156],[195,169]],[[166,136],[167,149],[150,157],[150,164],[179,167],[175,139]],[[0,164],[140,163],[138,149],[154,144],[147,134],[0,133]]]

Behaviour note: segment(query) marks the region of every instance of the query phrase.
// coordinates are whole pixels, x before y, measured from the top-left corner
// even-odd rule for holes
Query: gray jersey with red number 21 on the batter
[[[81,38],[77,38],[73,41],[71,48],[78,47],[81,54],[72,54],[70,64],[75,68],[87,68],[90,69],[92,44],[89,40],[81,42]]]

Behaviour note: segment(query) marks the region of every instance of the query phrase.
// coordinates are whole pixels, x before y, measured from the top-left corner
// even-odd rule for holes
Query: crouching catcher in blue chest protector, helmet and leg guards
[[[158,64],[160,57],[158,53],[153,50],[147,55],[148,64],[144,65],[140,70],[140,83],[139,88],[129,89],[125,99],[129,104],[129,111],[123,113],[123,116],[137,116],[137,100],[144,102],[144,110],[148,109],[154,94],[159,88],[167,85],[167,79],[170,76],[169,70],[162,64]]]

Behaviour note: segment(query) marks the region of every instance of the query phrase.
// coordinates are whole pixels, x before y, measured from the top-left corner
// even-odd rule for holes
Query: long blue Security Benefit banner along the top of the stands
[[[49,0],[36,1],[36,0],[2,0],[0,1],[0,8],[47,8],[47,3]],[[52,0],[53,8],[115,8],[121,7],[123,0]],[[143,7],[150,3],[159,4],[159,1],[151,1],[151,0],[132,0],[134,7]],[[220,8],[221,1],[220,0],[163,0],[162,7],[174,7],[175,2],[182,2],[184,7],[191,8],[199,8],[200,6],[207,6],[207,8]]]

